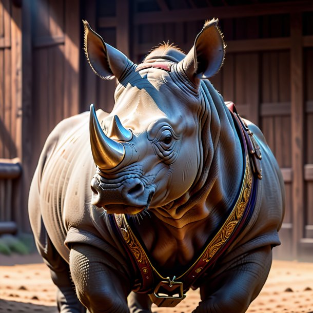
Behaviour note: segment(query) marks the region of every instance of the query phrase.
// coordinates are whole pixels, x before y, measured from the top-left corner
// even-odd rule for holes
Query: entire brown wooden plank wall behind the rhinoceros
[[[113,107],[115,82],[99,79],[85,60],[82,19],[107,43],[141,62],[163,41],[187,52],[205,19],[219,17],[226,60],[211,81],[241,115],[261,127],[283,172],[287,209],[276,256],[311,258],[311,1],[33,0],[23,1],[22,8],[13,3],[18,1],[0,2],[0,159],[18,157],[23,176],[19,211],[11,209],[19,213],[7,219],[19,219],[19,227],[29,230],[29,184],[51,129],[91,103],[106,111]],[[0,179],[0,212],[10,203],[17,206],[12,191],[8,200],[8,190],[12,182],[10,187]],[[0,220],[4,216],[0,213]]]

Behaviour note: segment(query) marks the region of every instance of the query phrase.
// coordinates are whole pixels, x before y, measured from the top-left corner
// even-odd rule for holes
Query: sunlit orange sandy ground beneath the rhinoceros
[[[49,270],[38,255],[0,256],[0,313],[56,313],[55,293]],[[190,313],[199,301],[199,292],[191,290],[178,306],[154,306],[153,312]],[[313,263],[274,261],[264,288],[247,312],[313,313]]]

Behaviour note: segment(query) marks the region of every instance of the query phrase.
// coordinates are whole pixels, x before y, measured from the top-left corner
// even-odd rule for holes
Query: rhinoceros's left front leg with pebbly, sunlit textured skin
[[[129,313],[129,279],[114,264],[109,266],[107,259],[103,250],[83,244],[72,245],[70,270],[77,297],[90,313]]]

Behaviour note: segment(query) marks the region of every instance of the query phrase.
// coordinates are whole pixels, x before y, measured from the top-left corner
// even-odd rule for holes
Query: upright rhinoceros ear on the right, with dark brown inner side
[[[217,26],[218,22],[218,19],[213,18],[204,24],[202,31],[195,38],[193,47],[180,62],[191,81],[208,79],[223,65],[225,45]]]

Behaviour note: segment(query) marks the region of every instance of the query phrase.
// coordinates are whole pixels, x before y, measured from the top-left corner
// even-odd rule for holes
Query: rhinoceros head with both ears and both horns
[[[224,59],[217,20],[205,24],[187,55],[165,44],[140,65],[84,26],[91,68],[102,79],[118,81],[112,112],[90,109],[97,165],[92,204],[108,213],[149,208],[171,217],[173,203],[188,198],[203,169],[201,132],[208,113],[201,79],[214,75]]]

